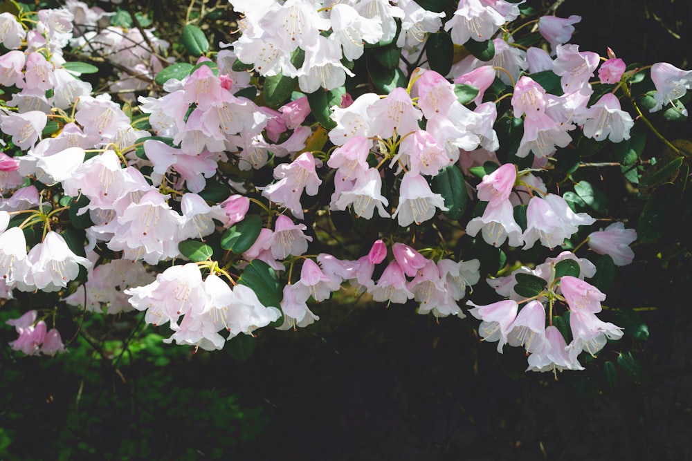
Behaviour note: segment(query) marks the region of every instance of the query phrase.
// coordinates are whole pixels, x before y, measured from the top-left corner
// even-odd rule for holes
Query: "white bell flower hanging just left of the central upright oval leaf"
[[[423,176],[405,173],[399,186],[399,206],[392,218],[398,218],[401,227],[420,224],[435,216],[437,208],[447,211],[444,198],[434,194]]]

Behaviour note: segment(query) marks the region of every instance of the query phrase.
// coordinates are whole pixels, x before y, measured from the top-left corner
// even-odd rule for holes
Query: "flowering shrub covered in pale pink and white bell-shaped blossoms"
[[[527,370],[646,339],[601,303],[686,193],[689,149],[656,122],[686,120],[691,71],[580,50],[579,17],[522,0],[230,3],[233,41],[216,51],[190,21],[175,62],[122,10],[6,2],[0,286],[26,300],[12,348],[69,351],[46,321],[138,310],[165,341],[217,350],[309,326],[339,290],[469,312]],[[118,69],[108,92],[80,55]],[[650,135],[668,158],[644,156]],[[604,166],[620,196],[650,195],[637,231],[584,173]],[[471,301],[479,284],[499,301]]]

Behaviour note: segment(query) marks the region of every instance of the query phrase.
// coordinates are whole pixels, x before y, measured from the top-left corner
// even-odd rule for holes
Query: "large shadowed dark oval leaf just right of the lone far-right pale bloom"
[[[678,215],[673,200],[675,188],[671,184],[659,186],[649,197],[639,215],[637,238],[643,243],[654,243],[673,227]]]

